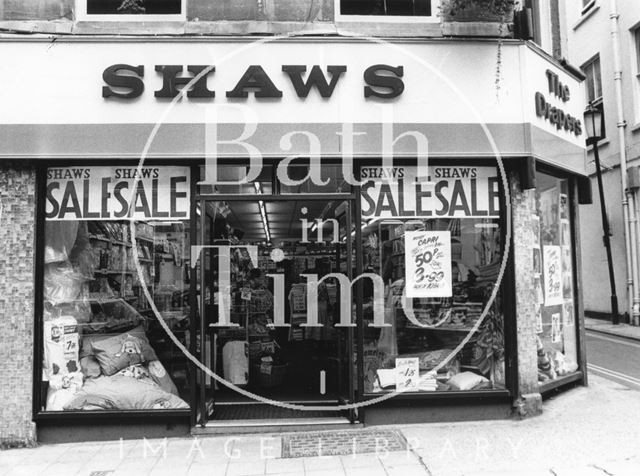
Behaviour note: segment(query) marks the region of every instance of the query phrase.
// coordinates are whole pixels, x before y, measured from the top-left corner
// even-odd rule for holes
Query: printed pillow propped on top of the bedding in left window
[[[91,348],[105,375],[113,375],[130,365],[158,360],[144,334],[125,332],[92,342]]]

